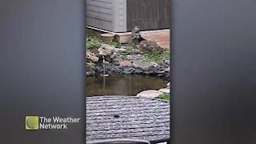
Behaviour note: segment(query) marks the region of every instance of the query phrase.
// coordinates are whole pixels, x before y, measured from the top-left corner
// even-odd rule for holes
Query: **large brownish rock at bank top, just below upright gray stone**
[[[139,42],[138,49],[142,51],[150,51],[150,52],[151,51],[160,52],[163,50],[160,46],[158,46],[157,42],[146,41],[146,40]]]

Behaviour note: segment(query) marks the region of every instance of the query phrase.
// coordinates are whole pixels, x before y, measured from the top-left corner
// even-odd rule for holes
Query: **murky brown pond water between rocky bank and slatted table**
[[[86,95],[136,95],[142,90],[159,90],[166,87],[166,84],[161,78],[138,74],[87,77]]]

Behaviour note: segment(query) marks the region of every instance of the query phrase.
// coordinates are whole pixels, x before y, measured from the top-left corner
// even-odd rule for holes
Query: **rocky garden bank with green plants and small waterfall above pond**
[[[106,74],[144,74],[170,81],[170,50],[141,50],[133,44],[102,42],[91,35],[86,47],[87,76],[103,74],[105,66]]]

